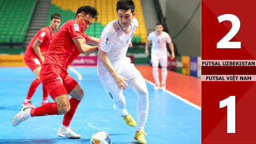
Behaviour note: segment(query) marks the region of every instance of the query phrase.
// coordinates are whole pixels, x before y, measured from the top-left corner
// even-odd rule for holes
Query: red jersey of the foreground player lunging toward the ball
[[[91,37],[84,34],[82,27],[77,21],[69,20],[65,22],[60,27],[58,33],[52,38],[44,64],[53,63],[67,70],[68,65],[79,55],[79,51],[72,38],[84,38],[84,42],[86,42]]]

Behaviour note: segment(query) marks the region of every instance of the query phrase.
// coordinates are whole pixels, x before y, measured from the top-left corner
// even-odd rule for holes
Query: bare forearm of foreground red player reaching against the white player
[[[90,46],[84,43],[83,38],[72,38],[79,52],[94,52],[98,50],[98,46]]]

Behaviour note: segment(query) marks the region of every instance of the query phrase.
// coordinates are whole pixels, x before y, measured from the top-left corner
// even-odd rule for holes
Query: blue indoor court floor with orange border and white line
[[[145,126],[148,144],[201,143],[200,79],[169,71],[166,90],[154,90],[151,67],[137,68],[145,77],[149,91],[149,115]],[[109,133],[113,144],[137,143],[133,139],[136,128],[127,126],[113,109],[113,102],[103,90],[96,68],[75,69],[83,76],[78,83],[85,95],[70,126],[82,135],[81,139],[57,136],[63,115],[33,117],[12,126],[12,118],[21,110],[21,103],[35,76],[26,67],[1,67],[0,143],[90,143],[91,135],[98,131]],[[70,75],[77,79],[73,73]],[[124,95],[127,110],[137,119],[137,95],[131,89],[125,90]],[[32,103],[37,107],[41,100],[42,85],[39,85]],[[50,96],[49,100],[53,101]]]

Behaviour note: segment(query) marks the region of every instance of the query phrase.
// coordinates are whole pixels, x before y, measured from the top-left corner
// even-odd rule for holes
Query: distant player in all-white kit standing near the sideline
[[[152,49],[151,49],[151,62],[153,67],[153,77],[155,79],[155,90],[165,89],[166,78],[167,78],[167,49],[166,43],[169,45],[172,56],[174,59],[174,48],[172,44],[171,37],[165,31],[163,31],[163,25],[161,23],[156,24],[156,31],[152,32],[148,36],[148,40],[145,46],[145,53],[149,55],[148,46],[152,41]],[[162,70],[162,83],[160,86],[159,82],[159,74],[158,74],[158,64],[160,62],[161,70]]]

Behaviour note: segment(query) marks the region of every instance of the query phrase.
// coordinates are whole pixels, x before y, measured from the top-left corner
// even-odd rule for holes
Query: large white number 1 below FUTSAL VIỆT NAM
[[[236,97],[229,96],[220,101],[220,108],[227,106],[227,133],[236,133]]]

